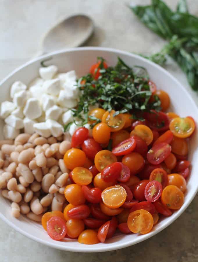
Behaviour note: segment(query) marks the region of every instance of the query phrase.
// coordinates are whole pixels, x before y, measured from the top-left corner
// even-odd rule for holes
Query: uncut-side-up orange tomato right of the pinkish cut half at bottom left
[[[67,226],[67,235],[70,238],[77,238],[81,232],[85,229],[85,224],[81,219],[69,219],[66,223]]]

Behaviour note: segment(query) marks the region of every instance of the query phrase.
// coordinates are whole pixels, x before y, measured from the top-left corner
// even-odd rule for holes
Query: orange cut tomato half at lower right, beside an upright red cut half
[[[175,185],[168,185],[162,191],[161,201],[170,209],[179,209],[183,205],[184,194]]]

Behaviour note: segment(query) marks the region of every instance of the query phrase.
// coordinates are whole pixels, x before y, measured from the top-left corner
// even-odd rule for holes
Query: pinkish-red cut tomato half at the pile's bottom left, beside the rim
[[[65,221],[58,216],[51,217],[47,221],[47,233],[53,240],[63,239],[67,233]]]

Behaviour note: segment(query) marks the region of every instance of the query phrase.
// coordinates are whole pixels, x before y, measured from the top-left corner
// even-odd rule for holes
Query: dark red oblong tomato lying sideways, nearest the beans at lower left
[[[90,209],[87,205],[79,205],[67,211],[69,218],[85,219],[90,215]]]

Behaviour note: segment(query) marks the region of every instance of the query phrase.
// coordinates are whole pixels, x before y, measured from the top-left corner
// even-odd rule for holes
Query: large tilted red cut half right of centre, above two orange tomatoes
[[[147,159],[151,164],[157,165],[170,155],[171,146],[167,143],[159,143],[153,146],[147,153]]]

